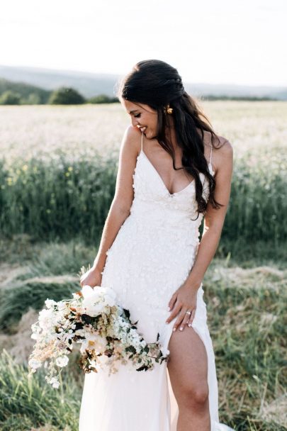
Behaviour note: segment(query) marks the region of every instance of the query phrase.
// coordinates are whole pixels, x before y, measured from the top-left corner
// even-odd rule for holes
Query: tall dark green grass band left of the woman
[[[47,162],[17,160],[0,164],[0,231],[28,233],[35,240],[84,237],[101,231],[113,198],[115,160],[95,152],[93,159],[63,156]]]

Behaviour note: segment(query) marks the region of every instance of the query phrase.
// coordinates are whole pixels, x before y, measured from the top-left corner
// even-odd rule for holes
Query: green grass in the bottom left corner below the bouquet
[[[28,377],[6,350],[0,357],[0,429],[30,431],[52,425],[52,430],[76,431],[81,391],[72,374],[63,370],[60,390],[47,385],[43,372]]]

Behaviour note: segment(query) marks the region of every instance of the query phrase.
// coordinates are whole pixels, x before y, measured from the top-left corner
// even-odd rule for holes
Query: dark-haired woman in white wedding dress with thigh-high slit
[[[232,146],[165,62],[137,63],[118,98],[132,125],[99,252],[81,286],[113,287],[145,340],[159,333],[169,361],[152,371],[86,374],[79,430],[228,430],[218,419],[202,281],[230,198]]]

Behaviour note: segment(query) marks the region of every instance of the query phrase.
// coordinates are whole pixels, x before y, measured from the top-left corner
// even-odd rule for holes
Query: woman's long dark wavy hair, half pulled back
[[[208,125],[210,122],[196,101],[186,93],[179,72],[162,60],[143,60],[137,62],[132,71],[118,85],[118,99],[144,103],[157,111],[157,140],[162,148],[171,155],[174,169],[185,169],[195,180],[198,215],[206,213],[208,201],[213,208],[218,209],[223,206],[214,198],[215,179],[208,170],[203,144],[204,130],[211,133],[211,145],[218,135],[215,134],[211,125]],[[170,126],[170,115],[164,111],[164,107],[168,103],[169,107],[173,108],[171,115],[174,118],[176,141],[182,149],[183,167],[180,168],[175,167],[174,147],[165,133],[166,127]],[[196,128],[201,130],[201,133],[198,133]],[[218,142],[220,142],[219,138]],[[200,172],[206,176],[209,183],[207,201],[203,198]]]

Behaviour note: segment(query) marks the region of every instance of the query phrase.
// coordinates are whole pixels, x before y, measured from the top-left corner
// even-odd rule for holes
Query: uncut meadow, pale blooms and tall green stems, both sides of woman
[[[285,102],[202,102],[232,142],[232,193],[218,252],[286,259]],[[23,111],[21,111],[23,109]],[[0,107],[0,228],[35,240],[101,236],[128,114],[104,106]],[[285,128],[284,128],[285,126]],[[268,242],[268,247],[262,244]],[[250,250],[250,247],[252,250]]]

